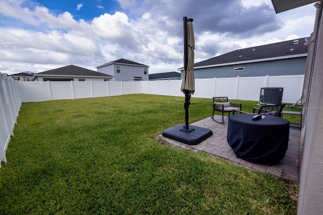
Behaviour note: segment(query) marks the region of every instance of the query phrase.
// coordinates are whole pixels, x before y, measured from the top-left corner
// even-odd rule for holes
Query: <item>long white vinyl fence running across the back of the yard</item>
[[[283,102],[294,103],[302,95],[304,75],[195,79],[195,98],[227,96],[258,101],[260,88],[283,87]],[[81,99],[126,94],[184,96],[182,80],[134,82],[21,82],[22,102]]]

